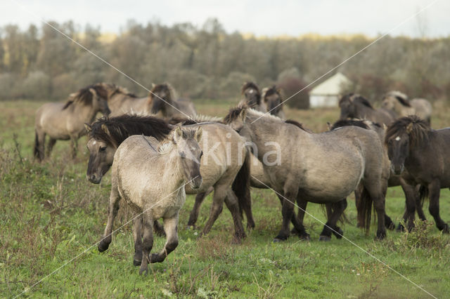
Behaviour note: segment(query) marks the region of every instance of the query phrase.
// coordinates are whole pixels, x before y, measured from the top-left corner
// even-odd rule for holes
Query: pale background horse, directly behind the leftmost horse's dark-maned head
[[[134,93],[130,93],[127,88],[115,84],[101,83],[101,85],[108,91],[110,117],[117,117],[122,114],[150,114],[148,111],[150,99],[148,97],[138,98]]]

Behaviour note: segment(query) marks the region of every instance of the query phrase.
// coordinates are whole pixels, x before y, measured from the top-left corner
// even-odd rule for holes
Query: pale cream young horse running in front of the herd
[[[178,246],[179,211],[186,201],[184,186],[189,184],[197,190],[202,184],[200,159],[203,151],[198,145],[202,128],[191,130],[178,127],[171,135],[172,138],[161,143],[152,137],[134,135],[124,140],[115,152],[108,223],[98,243],[98,251],[105,251],[111,243],[114,218],[123,198],[142,218],[139,274],[147,273],[148,261],[161,263]],[[150,255],[153,222],[160,218],[164,220],[166,244],[162,251]],[[136,227],[140,228],[140,223]]]

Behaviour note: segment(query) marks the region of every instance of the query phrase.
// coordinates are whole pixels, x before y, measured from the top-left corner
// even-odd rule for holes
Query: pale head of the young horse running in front
[[[202,139],[202,128],[196,130],[182,129],[177,127],[173,132],[173,141],[176,151],[181,157],[181,165],[184,171],[184,178],[190,182],[193,189],[202,185],[202,175],[200,174],[200,159],[203,151],[198,145]]]

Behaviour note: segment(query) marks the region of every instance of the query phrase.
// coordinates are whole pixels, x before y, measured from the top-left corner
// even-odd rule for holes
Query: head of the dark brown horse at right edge
[[[413,148],[428,140],[430,126],[416,115],[401,117],[387,127],[385,143],[391,161],[391,171],[396,175],[404,171],[406,158]]]

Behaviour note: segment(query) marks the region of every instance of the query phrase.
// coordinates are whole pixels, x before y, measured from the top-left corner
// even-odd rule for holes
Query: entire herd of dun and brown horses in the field
[[[328,241],[332,234],[342,238],[338,220],[352,192],[358,225],[368,232],[374,206],[376,237],[383,239],[386,228],[394,228],[385,213],[387,187],[398,185],[406,201],[406,228],[399,224],[398,230],[413,229],[416,211],[425,220],[423,199],[429,195],[438,229],[449,232],[439,216],[439,191],[450,187],[450,128],[430,127],[427,100],[409,100],[392,91],[375,109],[363,96],[350,93],[340,99],[340,119],[329,124],[329,131],[313,133],[297,121],[285,120],[276,86],[260,91],[246,82],[241,95],[239,104],[219,119],[198,115],[193,103],[179,99],[169,84],[153,86],[147,98],[115,84],[87,86],[65,103],[38,109],[34,157],[42,161],[56,140],[71,140],[75,155],[78,138],[88,135],[88,180],[100,183],[111,168],[108,222],[98,250],[108,248],[119,201],[124,199],[138,215],[133,236],[134,265],[141,266],[140,273],[147,271],[148,263],[165,260],[178,245],[179,211],[186,194],[196,194],[188,220],[195,226],[200,205],[214,192],[201,234],[210,232],[226,204],[234,241],[245,237],[244,213],[247,228],[255,227],[251,187],[271,189],[281,202],[281,230],[274,241],[292,234],[309,239],[303,225],[308,202],[326,206],[320,240]],[[96,120],[98,112],[104,117]],[[165,234],[166,244],[150,255],[153,231]]]

